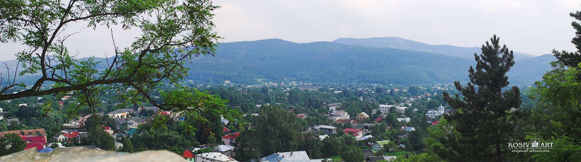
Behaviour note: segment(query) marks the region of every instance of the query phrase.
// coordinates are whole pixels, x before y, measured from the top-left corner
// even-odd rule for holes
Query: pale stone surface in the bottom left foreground
[[[49,154],[41,154],[35,149],[28,149],[2,156],[0,161],[184,161],[184,157],[166,150],[122,153],[91,150],[84,147],[60,147]]]

